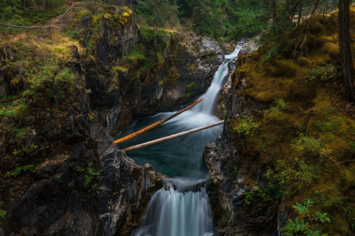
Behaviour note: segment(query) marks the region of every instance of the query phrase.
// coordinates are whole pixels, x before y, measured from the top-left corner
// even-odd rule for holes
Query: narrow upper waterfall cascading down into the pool
[[[223,79],[228,75],[228,62],[236,58],[242,46],[237,45],[235,50],[230,55],[225,55],[224,62],[219,66],[218,70],[214,73],[211,86],[207,92],[199,99],[204,97],[204,100],[192,108],[192,111],[203,112],[206,114],[214,114],[214,107],[217,100],[218,92],[222,88]]]

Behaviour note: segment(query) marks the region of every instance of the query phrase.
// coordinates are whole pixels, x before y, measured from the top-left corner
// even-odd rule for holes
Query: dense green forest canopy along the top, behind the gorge
[[[145,23],[169,23],[217,40],[237,40],[292,28],[299,14],[329,13],[338,2],[327,0],[83,0],[91,4],[127,5]],[[65,11],[64,0],[3,0],[2,23],[29,26]],[[45,5],[45,11],[43,11]],[[315,7],[313,7],[315,6]],[[314,10],[314,12],[313,12]],[[158,24],[159,25],[159,24]],[[163,26],[163,25],[161,25]]]

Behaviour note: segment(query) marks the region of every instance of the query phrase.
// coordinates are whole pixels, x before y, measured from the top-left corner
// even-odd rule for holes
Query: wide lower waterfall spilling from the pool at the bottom
[[[176,183],[175,183],[176,184]],[[205,187],[166,182],[149,201],[135,236],[212,236],[212,211]],[[201,186],[202,185],[202,186]]]

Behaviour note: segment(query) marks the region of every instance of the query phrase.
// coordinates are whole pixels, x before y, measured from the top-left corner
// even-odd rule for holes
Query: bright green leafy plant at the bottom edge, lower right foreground
[[[309,199],[303,204],[296,202],[296,205],[292,207],[295,208],[304,219],[300,220],[296,217],[295,222],[290,222],[288,226],[297,231],[304,231],[307,236],[321,236],[320,232],[315,230],[315,222],[318,220],[321,222],[330,222],[330,219],[327,217],[328,213],[316,212],[312,214],[308,209],[313,206],[312,204],[313,202]]]

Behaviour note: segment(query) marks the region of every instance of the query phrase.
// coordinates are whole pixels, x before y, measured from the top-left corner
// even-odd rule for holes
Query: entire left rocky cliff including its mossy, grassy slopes
[[[163,176],[149,164],[136,165],[109,134],[133,116],[185,106],[204,92],[223,61],[217,42],[169,33],[159,66],[122,69],[140,41],[127,9],[99,17],[82,12],[71,30],[80,45],[59,50],[38,39],[32,46],[21,39],[1,44],[1,236],[130,235]],[[56,64],[48,64],[51,57]],[[30,62],[39,77],[31,77]],[[42,63],[51,67],[40,71]],[[179,76],[166,82],[171,71]],[[43,75],[54,79],[40,84]],[[63,89],[54,91],[52,83]],[[22,98],[24,90],[29,95]]]

